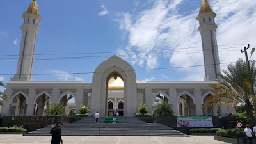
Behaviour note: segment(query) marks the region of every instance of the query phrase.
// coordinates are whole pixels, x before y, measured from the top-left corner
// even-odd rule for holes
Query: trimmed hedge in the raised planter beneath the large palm
[[[217,136],[227,137],[227,138],[239,138],[244,137],[243,129],[220,129],[216,132]]]

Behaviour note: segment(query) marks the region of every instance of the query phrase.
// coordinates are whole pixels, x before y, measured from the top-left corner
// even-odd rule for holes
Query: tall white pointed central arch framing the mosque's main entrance
[[[131,65],[118,56],[112,56],[100,63],[93,74],[91,111],[92,113],[99,111],[100,116],[108,116],[108,84],[114,75],[122,79],[124,83],[124,116],[132,117],[137,109],[136,74]],[[117,104],[113,107],[115,110],[118,109]]]

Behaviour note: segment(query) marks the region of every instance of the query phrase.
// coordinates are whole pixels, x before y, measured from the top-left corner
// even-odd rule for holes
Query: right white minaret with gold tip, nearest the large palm
[[[205,67],[205,81],[215,81],[218,79],[218,74],[221,73],[220,60],[218,54],[218,45],[216,39],[216,29],[218,28],[215,23],[216,13],[207,0],[202,0],[199,15],[196,18],[199,21],[199,28],[202,47],[204,53],[204,67]]]

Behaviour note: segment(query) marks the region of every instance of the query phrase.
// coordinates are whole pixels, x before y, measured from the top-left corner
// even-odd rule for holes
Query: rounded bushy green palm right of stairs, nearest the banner
[[[174,116],[172,104],[169,102],[162,102],[157,104],[157,109],[154,111],[154,116]]]

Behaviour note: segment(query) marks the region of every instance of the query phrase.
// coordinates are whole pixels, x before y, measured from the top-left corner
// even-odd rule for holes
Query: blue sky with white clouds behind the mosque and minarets
[[[0,81],[4,83],[17,70],[21,15],[31,1],[0,1]],[[36,42],[34,81],[91,83],[95,68],[113,54],[130,63],[141,82],[204,81],[196,20],[201,0],[37,2],[43,20]],[[209,3],[217,13],[218,49],[225,69],[227,63],[244,58],[240,51],[244,46],[256,47],[256,1]],[[195,65],[199,66],[190,67]],[[70,74],[76,72],[89,74]]]

